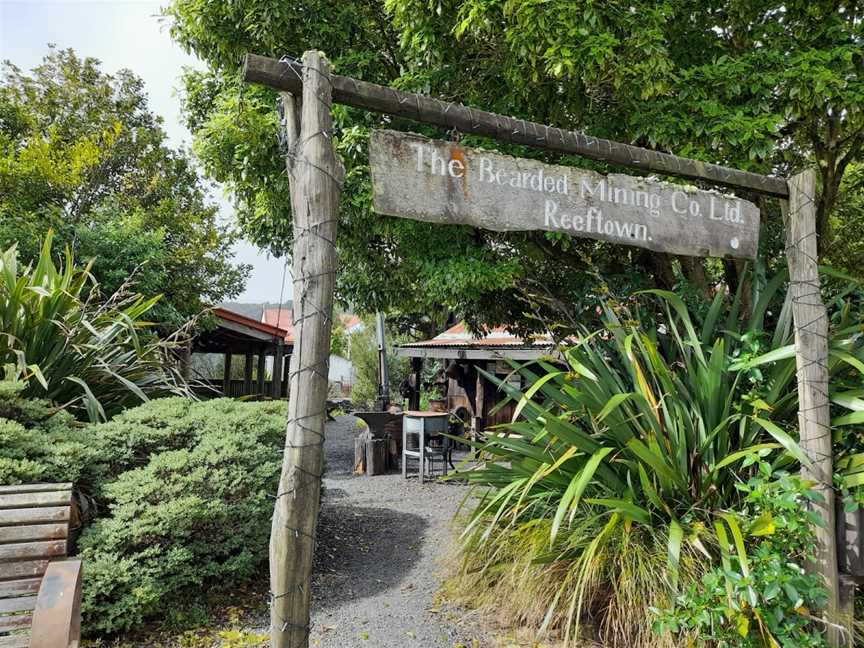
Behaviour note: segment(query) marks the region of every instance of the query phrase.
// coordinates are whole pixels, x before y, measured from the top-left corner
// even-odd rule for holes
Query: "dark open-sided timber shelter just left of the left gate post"
[[[294,350],[291,322],[274,326],[226,308],[214,308],[216,326],[192,343],[192,353],[218,353],[225,358],[221,381],[203,381],[225,396],[288,395],[288,366]],[[243,356],[243,379],[231,377],[234,356]],[[273,358],[270,380],[266,380],[267,357]],[[255,378],[253,380],[253,377]]]

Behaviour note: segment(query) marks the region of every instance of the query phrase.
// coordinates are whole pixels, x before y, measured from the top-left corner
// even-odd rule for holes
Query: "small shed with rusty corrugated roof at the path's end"
[[[412,393],[408,409],[420,409],[424,361],[427,358],[439,360],[444,368],[446,409],[462,419],[466,427],[470,424],[471,435],[477,438],[487,427],[509,422],[516,407],[515,403],[508,403],[493,412],[504,394],[478,369],[502,380],[509,376],[509,380],[521,388],[521,376],[513,374],[513,367],[507,360],[528,362],[554,351],[555,344],[548,336],[524,339],[499,326],[482,337],[475,337],[464,323],[459,323],[431,340],[402,344],[395,353],[411,358]]]

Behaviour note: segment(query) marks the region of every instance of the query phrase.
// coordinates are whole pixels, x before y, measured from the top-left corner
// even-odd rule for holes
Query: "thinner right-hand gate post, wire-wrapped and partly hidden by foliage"
[[[816,527],[817,555],[812,568],[825,580],[827,620],[836,624],[840,622],[840,583],[828,404],[828,313],[822,303],[816,251],[816,177],[816,171],[808,169],[789,179],[789,203],[784,215],[795,321],[799,438],[801,449],[810,458],[809,464],[801,466],[801,477],[815,482],[814,489],[823,501],[812,507],[825,523],[824,527]],[[840,645],[836,626],[829,626],[828,644]]]

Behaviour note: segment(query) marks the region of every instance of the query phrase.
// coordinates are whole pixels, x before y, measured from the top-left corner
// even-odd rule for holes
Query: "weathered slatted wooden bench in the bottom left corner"
[[[0,648],[77,648],[81,561],[67,560],[72,484],[0,486]]]

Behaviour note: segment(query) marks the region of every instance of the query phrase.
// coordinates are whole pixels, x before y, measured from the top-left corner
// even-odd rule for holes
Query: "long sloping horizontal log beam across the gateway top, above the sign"
[[[302,92],[300,62],[284,62],[247,54],[243,80],[290,92]],[[756,191],[785,198],[789,195],[783,178],[739,171],[700,160],[670,155],[652,149],[591,137],[579,131],[554,128],[536,122],[469,108],[433,97],[402,92],[394,88],[333,75],[333,101],[372,112],[406,117],[463,133],[488,135],[504,142],[524,144],[557,153],[581,155],[619,166],[667,175],[704,180],[725,187]]]

